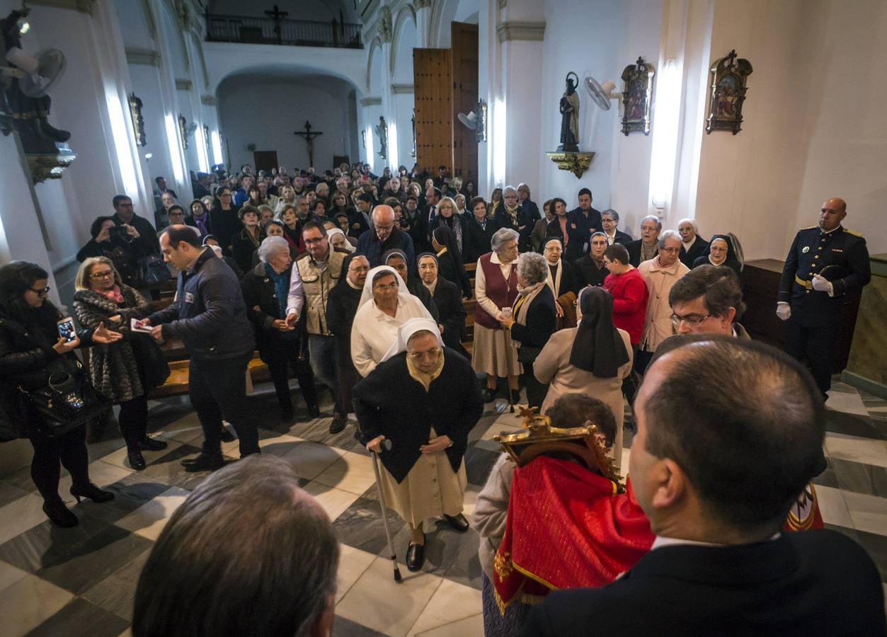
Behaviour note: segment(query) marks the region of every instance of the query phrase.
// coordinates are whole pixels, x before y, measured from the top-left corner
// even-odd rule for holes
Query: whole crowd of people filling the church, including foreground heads
[[[4,382],[4,405],[19,414],[20,435],[34,444],[32,476],[44,511],[59,526],[78,522],[58,494],[59,461],[74,478],[75,496],[113,497],[90,483],[83,428],[52,433],[48,417],[26,398],[27,391],[47,383],[58,360],[76,375],[81,366],[72,352],[77,347],[87,353],[81,373],[106,403],[120,405],[129,462],[137,470],[145,468],[143,450],[165,444],[146,435],[146,397],[169,374],[163,342],[180,340],[190,355],[189,395],[204,442],[197,457],[183,460],[187,471],[224,466],[221,443],[228,432],[223,421],[236,430],[241,458],[259,455],[244,383],[255,350],[269,368],[281,419],[294,419],[291,375],[310,417],[320,414],[318,386],[325,386],[334,401],[330,433],[346,429],[354,412],[355,435],[379,455],[381,492],[411,530],[410,570],[420,570],[424,562],[426,520],[443,517],[454,530],[467,531],[468,433],[484,403],[501,396],[514,405],[521,402],[521,389],[525,402],[550,419],[600,423],[605,429],[601,444],[623,474],[624,398],[634,402],[635,491],[630,498],[643,510],[639,515],[646,515],[656,542],[744,546],[771,538],[789,507],[800,507],[805,485],[824,468],[821,412],[830,374],[818,348],[834,345],[840,297],[864,286],[869,277],[865,240],[841,225],[846,215],[842,200],[826,201],[818,226],[798,232],[774,308],[787,321],[789,353],[811,367],[814,385],[797,362],[750,343],[739,323],[742,246],[729,232],[704,240],[692,219],[679,221],[675,231],[663,230],[656,216],[645,216],[640,238],[633,240],[619,228],[616,210],[593,208],[587,188],[578,191],[571,210],[560,197],[540,207],[526,184],[497,188],[487,201],[474,184],[449,179],[443,170],[425,177],[400,167],[396,174],[386,169],[376,177],[365,164],[343,165],[323,175],[309,169],[290,176],[282,168],[254,174],[248,166],[236,177],[221,170],[196,175],[195,197],[187,209],[162,177],[157,186],[155,225],[137,215],[125,195],[114,197],[113,215],[99,216],[92,224],[92,238],[78,255],[82,264],[74,309],[81,329],[74,340],[56,331],[61,316],[47,299],[46,271],[24,262],[0,269],[0,368],[4,378],[12,379],[12,384]],[[159,255],[170,275],[177,276],[175,300],[161,309],[149,304],[152,295],[156,301],[157,290],[145,280],[146,262]],[[470,341],[468,311],[473,313]],[[687,334],[695,334],[705,347],[680,349],[674,341]],[[757,374],[758,369],[765,372]],[[726,381],[737,393],[721,405],[711,395],[721,395]],[[404,393],[407,387],[411,391]],[[697,393],[684,397],[691,389]],[[764,395],[771,396],[767,405],[757,405]],[[749,415],[732,417],[732,433],[701,433],[719,409],[738,408],[743,397],[748,397]],[[593,402],[583,402],[586,398]],[[718,406],[706,406],[708,401]],[[790,428],[781,421],[783,405],[795,419]],[[724,430],[719,423],[718,431]],[[750,481],[742,492],[723,486],[726,478],[718,472],[737,479],[746,471],[749,459],[743,460],[742,449],[756,455],[771,444],[778,452],[760,455],[763,464],[751,469],[781,480],[766,487],[773,493],[770,500],[757,501],[750,492],[759,481]],[[724,446],[723,453],[718,445]],[[709,466],[709,458],[721,463],[718,468]],[[497,551],[506,514],[511,515],[511,474],[520,469],[503,468],[503,461],[475,511],[488,634],[514,634],[521,626],[528,634],[569,633],[592,621],[585,617],[587,609],[606,607],[606,591],[614,591],[620,608],[645,599],[644,586],[650,585],[638,578],[600,595],[552,595],[532,613],[529,607],[517,612],[515,605],[509,615],[499,591]],[[206,548],[197,539],[211,534],[208,527],[184,528],[197,523],[192,508],[198,505],[191,505],[192,499],[217,499],[233,507],[235,500],[246,498],[250,507],[259,507],[254,496],[269,502],[287,498],[282,486],[265,484],[264,491],[249,492],[234,484],[241,474],[244,484],[258,484],[266,468],[280,474],[282,484],[292,482],[285,468],[260,462],[225,469],[224,478],[220,472],[173,516],[139,585],[135,634],[166,632],[164,622],[170,618],[163,614],[170,612],[175,596],[154,589],[166,586],[172,553]],[[786,467],[775,472],[766,462],[785,462]],[[290,491],[299,492],[295,486]],[[301,513],[293,515],[302,519],[293,528],[308,524],[321,542],[327,531],[319,529],[328,522],[310,501],[302,501],[306,498],[295,496]],[[292,505],[293,496],[287,501]],[[740,513],[733,512],[734,505]],[[703,524],[710,513],[721,519]],[[294,533],[288,531],[287,538],[297,537]],[[810,542],[780,539],[760,550],[724,548],[718,559],[753,562],[766,570],[774,551],[801,554],[791,559],[804,560],[825,547],[836,547],[836,555],[844,555],[860,572],[869,568],[861,549],[832,536]],[[649,543],[644,552],[648,549]],[[236,547],[219,547],[221,553],[228,550]],[[326,545],[321,550],[327,562],[318,573],[328,575],[331,563],[334,573],[337,552]],[[699,559],[695,550],[662,554]],[[643,558],[639,567],[655,572],[653,562],[658,563]],[[518,568],[516,562],[513,566]],[[825,572],[832,566],[816,568]],[[184,590],[193,578],[211,572],[208,567],[189,571],[176,586]],[[696,575],[700,582],[695,586],[704,588],[708,576]],[[784,586],[805,586],[797,572],[786,577]],[[247,588],[259,590],[256,578],[256,572],[249,574]],[[286,615],[280,621],[293,633],[309,625],[328,628],[330,586],[324,580],[310,591],[323,597],[305,607],[304,617]],[[784,586],[767,597],[784,594]],[[880,585],[877,590],[880,596]],[[242,624],[233,617],[223,620],[232,611],[221,599],[213,601],[219,634],[233,634],[232,626]],[[866,589],[859,603],[871,599]],[[678,608],[672,609],[674,621]],[[712,602],[706,612],[726,608],[726,602]],[[870,617],[871,609],[865,610]],[[809,617],[798,621],[808,625]],[[883,609],[881,621],[883,626]],[[705,625],[700,620],[699,626]]]

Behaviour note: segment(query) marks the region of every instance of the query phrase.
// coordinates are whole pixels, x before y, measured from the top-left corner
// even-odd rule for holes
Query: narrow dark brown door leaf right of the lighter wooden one
[[[477,185],[477,137],[459,122],[459,113],[477,107],[477,25],[451,22],[452,175]]]

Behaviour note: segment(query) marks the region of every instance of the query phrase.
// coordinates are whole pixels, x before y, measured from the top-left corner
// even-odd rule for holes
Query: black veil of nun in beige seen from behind
[[[625,343],[613,326],[613,297],[602,287],[579,292],[582,320],[576,330],[569,364],[598,378],[614,378],[628,362]]]

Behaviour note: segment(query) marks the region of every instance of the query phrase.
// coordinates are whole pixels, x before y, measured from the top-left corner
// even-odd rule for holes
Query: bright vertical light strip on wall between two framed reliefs
[[[654,208],[671,204],[678,153],[681,74],[678,63],[667,59],[656,82],[653,148],[650,157],[650,198]]]

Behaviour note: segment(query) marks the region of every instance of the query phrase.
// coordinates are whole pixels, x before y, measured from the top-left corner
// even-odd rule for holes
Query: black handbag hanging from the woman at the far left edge
[[[19,390],[37,413],[37,428],[57,437],[82,427],[110,406],[83,373],[82,365],[62,356],[46,366],[46,385]]]

